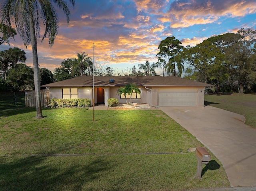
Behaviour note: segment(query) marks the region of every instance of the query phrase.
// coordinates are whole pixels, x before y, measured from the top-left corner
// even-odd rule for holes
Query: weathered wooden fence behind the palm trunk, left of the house
[[[41,106],[46,107],[50,102],[50,91],[40,90],[41,93]],[[35,91],[25,92],[25,104],[26,107],[36,107],[36,93]]]

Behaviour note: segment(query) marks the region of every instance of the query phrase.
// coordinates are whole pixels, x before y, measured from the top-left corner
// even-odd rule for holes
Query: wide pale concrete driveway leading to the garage
[[[160,109],[222,162],[232,187],[256,185],[256,129],[244,116],[212,106]]]

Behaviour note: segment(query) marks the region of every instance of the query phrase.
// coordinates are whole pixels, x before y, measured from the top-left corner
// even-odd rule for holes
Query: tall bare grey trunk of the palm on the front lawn
[[[30,40],[33,53],[33,68],[34,68],[34,84],[35,84],[35,95],[36,95],[36,118],[42,118],[42,106],[41,106],[41,95],[40,95],[40,75],[38,66],[37,56],[37,45],[36,45],[36,34],[33,15],[29,15],[29,28],[30,28]]]

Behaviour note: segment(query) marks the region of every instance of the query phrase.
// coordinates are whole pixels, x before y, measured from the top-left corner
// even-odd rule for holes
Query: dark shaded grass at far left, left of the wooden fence
[[[15,106],[16,99],[16,106]],[[4,112],[25,107],[25,93],[24,92],[8,92],[0,93],[0,115]]]

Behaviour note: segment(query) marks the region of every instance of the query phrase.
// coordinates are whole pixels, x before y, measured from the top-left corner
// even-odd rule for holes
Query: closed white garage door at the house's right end
[[[197,97],[196,90],[161,92],[158,93],[158,103],[159,106],[197,106]]]

